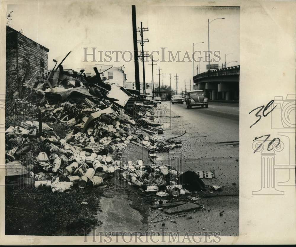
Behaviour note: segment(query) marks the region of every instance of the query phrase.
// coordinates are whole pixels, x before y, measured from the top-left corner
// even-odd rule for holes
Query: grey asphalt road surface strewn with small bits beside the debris
[[[220,232],[223,236],[239,235],[239,105],[231,103],[210,102],[208,108],[193,107],[187,109],[185,104],[162,102],[162,122],[169,127],[165,130],[167,138],[181,135],[185,144],[180,150],[173,149],[169,154],[158,153],[158,162],[168,163],[169,156],[182,157],[182,171],[214,171],[215,178],[203,179],[208,191],[211,185],[221,185],[217,192],[199,193],[200,202],[205,210],[190,211],[193,219],[177,216],[177,223],[166,220],[149,224],[149,231],[162,228],[180,235],[186,232],[210,231]],[[209,195],[215,197],[208,198]],[[222,212],[222,216],[220,212]],[[150,209],[149,219],[159,211]],[[165,215],[162,215],[162,217]],[[160,218],[161,219],[161,218]]]

